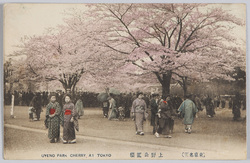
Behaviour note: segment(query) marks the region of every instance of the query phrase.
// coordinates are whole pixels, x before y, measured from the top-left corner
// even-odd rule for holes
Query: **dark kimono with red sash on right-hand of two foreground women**
[[[70,119],[74,117],[77,119],[77,112],[73,103],[66,103],[63,106],[64,124],[63,124],[63,140],[71,141],[76,138],[74,122],[70,122]]]

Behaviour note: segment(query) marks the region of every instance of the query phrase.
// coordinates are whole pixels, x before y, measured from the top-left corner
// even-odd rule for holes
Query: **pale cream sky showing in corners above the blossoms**
[[[246,20],[244,4],[213,4]],[[16,45],[27,35],[41,35],[46,28],[63,24],[64,11],[70,8],[86,9],[84,4],[6,4],[4,6],[4,56],[18,50]],[[234,33],[241,40],[246,40],[246,27],[237,27]]]

